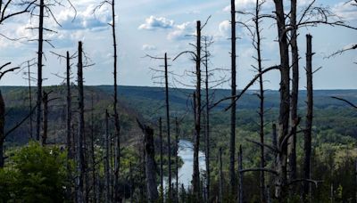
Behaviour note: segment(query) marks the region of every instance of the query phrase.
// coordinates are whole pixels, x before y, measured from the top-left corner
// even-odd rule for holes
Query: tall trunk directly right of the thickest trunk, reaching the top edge
[[[291,30],[291,53],[293,66],[293,83],[291,92],[291,120],[297,120],[297,102],[299,93],[299,51],[297,47],[297,26],[296,26],[296,0],[291,0],[290,21],[293,29]],[[289,179],[296,179],[296,128],[292,129],[292,136],[288,142],[288,171]],[[294,190],[293,190],[294,191]]]

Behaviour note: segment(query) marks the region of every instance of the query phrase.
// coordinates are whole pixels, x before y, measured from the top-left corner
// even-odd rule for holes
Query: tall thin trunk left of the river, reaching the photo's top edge
[[[119,192],[119,171],[120,171],[120,122],[119,122],[119,114],[118,114],[118,84],[117,84],[117,39],[115,32],[115,0],[112,0],[112,45],[114,48],[114,125],[115,125],[115,138],[116,146],[115,146],[115,169],[114,169],[114,200],[120,201],[120,192]]]

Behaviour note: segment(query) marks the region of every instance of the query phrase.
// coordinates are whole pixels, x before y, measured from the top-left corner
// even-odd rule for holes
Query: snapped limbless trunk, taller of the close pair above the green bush
[[[78,161],[78,178],[77,178],[77,199],[79,202],[84,202],[84,191],[83,182],[86,173],[85,170],[85,158],[83,153],[83,141],[84,141],[84,92],[83,92],[83,61],[82,61],[82,42],[79,42],[79,63],[78,63],[78,87],[79,87],[79,129],[78,129],[78,151],[77,151],[77,161]]]

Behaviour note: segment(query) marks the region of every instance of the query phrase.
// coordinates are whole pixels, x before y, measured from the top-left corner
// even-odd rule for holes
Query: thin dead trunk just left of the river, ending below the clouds
[[[170,106],[169,106],[169,78],[168,78],[168,61],[167,53],[165,53],[165,102],[166,102],[166,126],[167,126],[167,141],[169,150],[169,199],[171,199],[171,142],[170,142]]]

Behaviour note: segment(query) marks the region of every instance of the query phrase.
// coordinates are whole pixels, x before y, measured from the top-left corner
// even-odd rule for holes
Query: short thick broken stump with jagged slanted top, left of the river
[[[155,163],[155,151],[154,151],[154,130],[141,124],[137,120],[137,124],[140,126],[144,133],[145,143],[145,175],[146,175],[146,191],[149,202],[155,202],[159,198],[156,184],[156,163]]]

